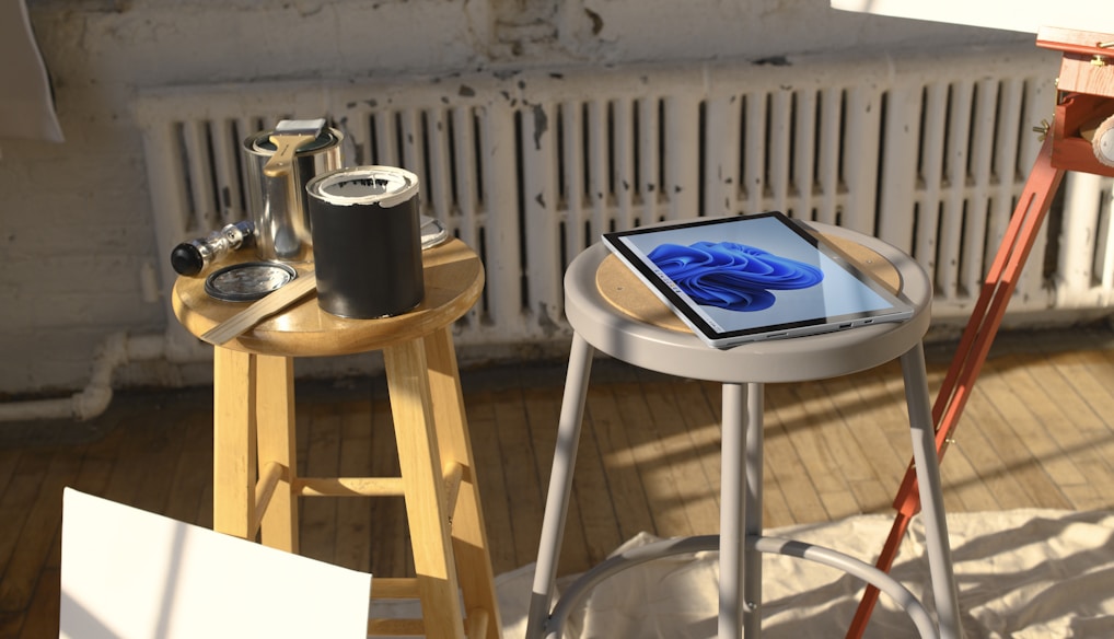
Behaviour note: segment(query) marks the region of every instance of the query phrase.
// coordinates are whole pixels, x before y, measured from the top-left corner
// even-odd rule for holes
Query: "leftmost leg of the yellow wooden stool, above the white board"
[[[213,351],[213,530],[242,539],[255,530],[255,355]]]

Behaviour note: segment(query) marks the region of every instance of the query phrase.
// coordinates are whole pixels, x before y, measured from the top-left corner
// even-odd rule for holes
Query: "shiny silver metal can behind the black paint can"
[[[247,206],[255,224],[255,253],[260,259],[309,262],[313,236],[305,185],[317,175],[341,168],[343,134],[323,128],[312,142],[299,147],[290,173],[268,176],[264,167],[275,153],[274,131],[260,131],[244,140]]]

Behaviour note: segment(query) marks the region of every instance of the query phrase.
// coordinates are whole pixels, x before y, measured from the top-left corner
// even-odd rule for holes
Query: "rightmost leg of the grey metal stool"
[[[925,521],[928,545],[928,566],[932,577],[932,594],[936,600],[940,637],[958,639],[962,637],[959,629],[959,601],[951,567],[951,550],[948,544],[948,523],[944,512],[944,490],[940,485],[940,466],[936,454],[936,429],[932,424],[931,402],[928,399],[925,350],[920,343],[901,355],[901,374],[905,377],[913,463],[917,468],[921,517]]]

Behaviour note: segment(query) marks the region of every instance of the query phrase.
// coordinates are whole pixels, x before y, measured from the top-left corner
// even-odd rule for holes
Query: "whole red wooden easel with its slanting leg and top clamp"
[[[1098,122],[1114,116],[1114,35],[1042,28],[1037,33],[1037,46],[1063,51],[1055,118],[932,406],[936,449],[941,459],[986,362],[1006,305],[1064,171],[1114,177],[1114,167],[1096,159],[1088,139]],[[910,463],[893,500],[897,510],[893,527],[877,562],[877,567],[886,572],[893,566],[910,520],[920,510],[916,476]],[[868,586],[848,630],[849,639],[862,637],[877,602],[878,589]]]

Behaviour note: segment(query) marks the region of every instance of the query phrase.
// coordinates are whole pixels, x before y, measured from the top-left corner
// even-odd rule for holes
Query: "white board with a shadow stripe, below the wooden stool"
[[[66,489],[59,637],[360,638],[371,576]]]

